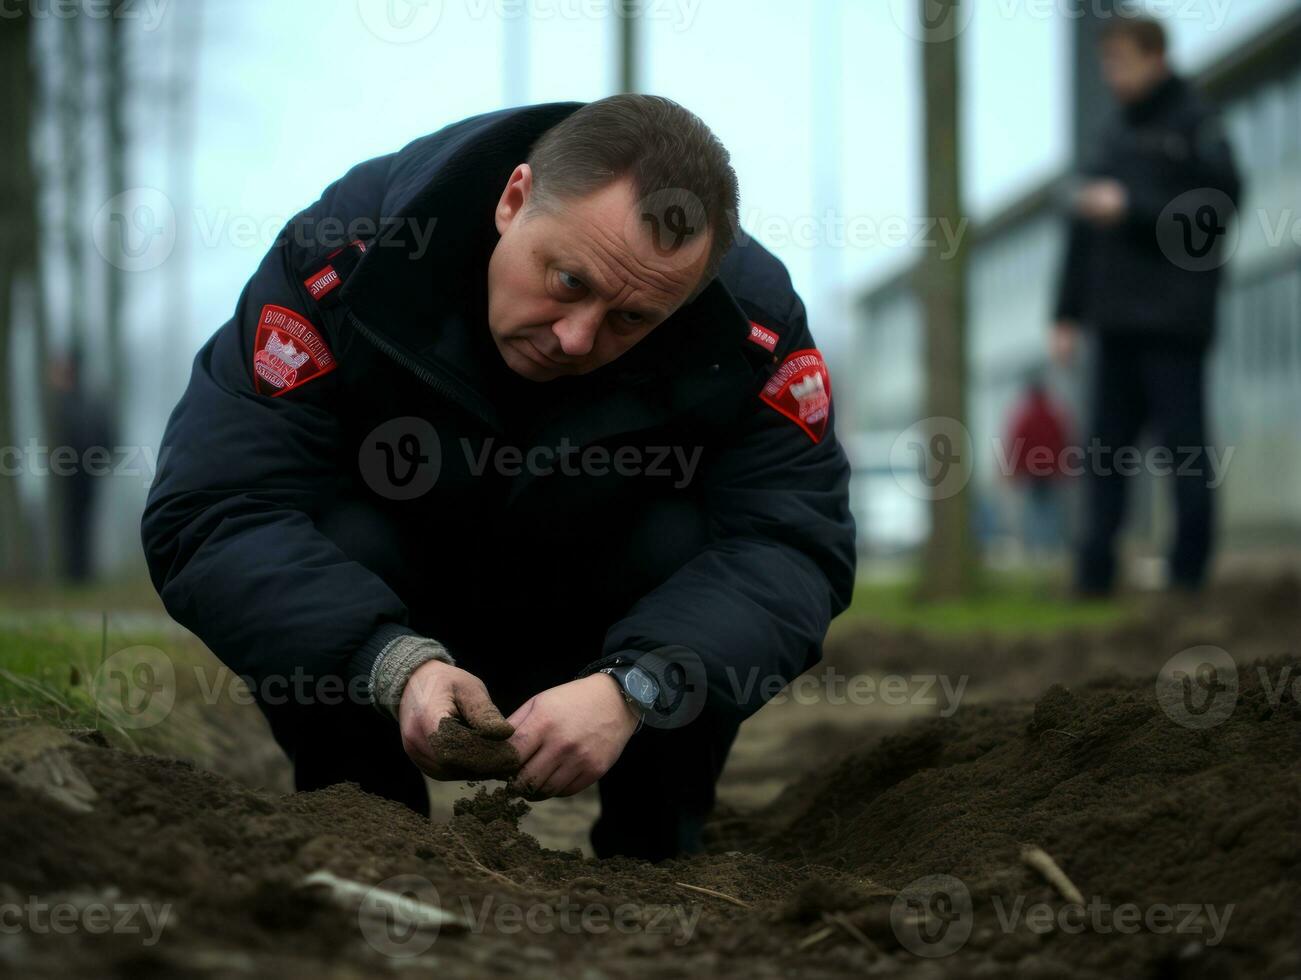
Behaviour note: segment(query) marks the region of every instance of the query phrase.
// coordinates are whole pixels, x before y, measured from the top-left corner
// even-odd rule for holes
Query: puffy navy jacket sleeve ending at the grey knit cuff
[[[347,357],[346,338],[302,285],[288,230],[234,318],[194,359],[167,423],[141,535],[168,613],[233,670],[259,685],[343,678],[347,695],[367,701],[377,653],[412,631],[398,596],[312,522],[338,484],[341,372],[278,396],[262,393],[254,375],[267,305],[306,319],[336,363]]]

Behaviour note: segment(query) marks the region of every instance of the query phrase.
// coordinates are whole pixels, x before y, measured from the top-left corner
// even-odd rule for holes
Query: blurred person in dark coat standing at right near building
[[[1205,367],[1241,185],[1218,117],[1171,70],[1160,23],[1116,17],[1102,35],[1102,65],[1120,111],[1075,198],[1051,345],[1066,362],[1081,328],[1098,340],[1076,586],[1084,595],[1115,586],[1132,476],[1116,453],[1132,456],[1151,426],[1176,474],[1170,580],[1197,590],[1214,517]]]

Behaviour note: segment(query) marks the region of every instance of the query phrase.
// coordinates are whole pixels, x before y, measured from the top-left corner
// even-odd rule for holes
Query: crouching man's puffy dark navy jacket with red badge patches
[[[850,469],[830,403],[816,437],[816,418],[761,398],[818,357],[757,242],[742,237],[693,302],[520,446],[622,448],[639,471],[481,466],[509,433],[481,384],[487,323],[453,297],[485,288],[507,177],[579,107],[475,116],[356,165],[286,225],[199,350],[144,553],[168,612],[255,685],[358,678],[401,633],[571,675],[677,646],[699,657],[709,703],[740,718],[821,656],[853,584]],[[315,376],[276,389],[294,370]],[[384,467],[416,445],[436,480],[405,498]],[[691,479],[665,475],[693,453]],[[385,548],[407,574],[323,532],[341,501],[402,528]]]

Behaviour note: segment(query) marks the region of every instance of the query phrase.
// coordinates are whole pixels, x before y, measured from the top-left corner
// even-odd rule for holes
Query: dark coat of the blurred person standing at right
[[[1072,220],[1058,319],[1209,340],[1241,195],[1216,116],[1171,75],[1115,117],[1085,176],[1123,184],[1129,212],[1110,228]]]

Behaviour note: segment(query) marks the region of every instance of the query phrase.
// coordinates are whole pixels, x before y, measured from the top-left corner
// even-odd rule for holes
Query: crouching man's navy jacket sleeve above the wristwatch
[[[795,310],[790,349],[813,347],[798,299]],[[636,662],[661,690],[700,687],[696,708],[708,703],[738,721],[818,661],[855,575],[850,465],[835,439],[834,406],[814,442],[757,397],[755,403],[703,475],[709,544],[634,604],[608,631],[605,659],[588,668]]]

